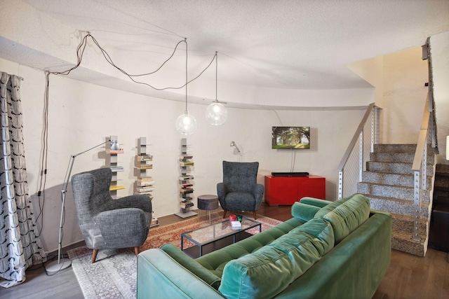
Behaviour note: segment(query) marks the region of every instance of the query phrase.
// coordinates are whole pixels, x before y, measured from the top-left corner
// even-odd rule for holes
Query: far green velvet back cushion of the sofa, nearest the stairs
[[[322,209],[326,209],[326,207]],[[315,216],[319,215],[319,212]],[[356,230],[369,216],[370,200],[363,195],[357,194],[345,199],[344,202],[340,202],[335,209],[321,217],[332,225],[335,244],[337,244]]]

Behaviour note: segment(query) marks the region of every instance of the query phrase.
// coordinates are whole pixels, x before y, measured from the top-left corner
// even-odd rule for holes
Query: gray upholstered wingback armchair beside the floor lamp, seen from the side
[[[147,195],[130,195],[113,200],[109,193],[112,172],[100,168],[72,176],[72,190],[78,224],[93,249],[92,263],[99,249],[139,246],[147,239],[152,221],[152,202]]]

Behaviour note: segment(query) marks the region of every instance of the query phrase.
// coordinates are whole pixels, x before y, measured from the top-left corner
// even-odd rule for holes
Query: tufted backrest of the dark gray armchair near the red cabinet
[[[223,183],[230,192],[251,192],[257,184],[259,162],[223,161]]]

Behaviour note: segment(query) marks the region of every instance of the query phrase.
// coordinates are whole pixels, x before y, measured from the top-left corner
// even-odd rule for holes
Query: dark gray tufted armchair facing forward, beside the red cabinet
[[[223,161],[223,182],[217,183],[218,200],[227,211],[255,211],[259,209],[264,194],[264,186],[257,183],[259,162]]]

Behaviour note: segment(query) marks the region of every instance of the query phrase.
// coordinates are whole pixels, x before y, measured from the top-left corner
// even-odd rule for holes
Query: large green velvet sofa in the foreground
[[[304,197],[293,218],[189,258],[172,244],[138,256],[138,298],[371,298],[390,261],[391,215],[363,195]]]

